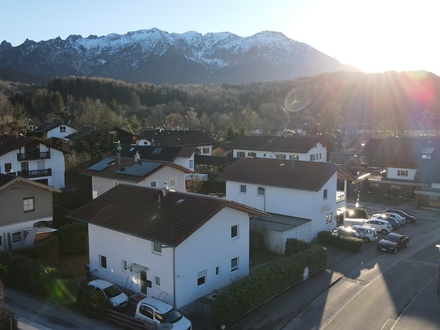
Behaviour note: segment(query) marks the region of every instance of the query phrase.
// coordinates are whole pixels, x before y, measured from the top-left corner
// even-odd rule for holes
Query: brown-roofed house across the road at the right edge
[[[440,138],[375,138],[361,153],[371,169],[363,194],[415,198],[419,207],[440,207]]]

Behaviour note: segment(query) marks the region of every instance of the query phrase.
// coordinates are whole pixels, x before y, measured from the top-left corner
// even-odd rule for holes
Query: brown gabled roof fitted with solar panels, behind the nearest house
[[[193,171],[183,166],[167,161],[139,160],[136,162],[134,158],[107,157],[88,167],[80,174],[137,183],[167,166],[184,173],[193,173]]]

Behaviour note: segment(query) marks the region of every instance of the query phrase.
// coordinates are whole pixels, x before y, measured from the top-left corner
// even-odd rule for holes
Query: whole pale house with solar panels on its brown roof
[[[81,172],[92,177],[93,198],[120,183],[154,188],[167,185],[172,190],[186,191],[188,173],[192,171],[172,162],[126,157],[107,157]]]

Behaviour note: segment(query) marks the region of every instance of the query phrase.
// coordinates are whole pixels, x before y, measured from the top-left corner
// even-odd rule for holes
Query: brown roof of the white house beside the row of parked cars
[[[334,163],[240,158],[217,179],[319,191],[337,171],[338,166]]]

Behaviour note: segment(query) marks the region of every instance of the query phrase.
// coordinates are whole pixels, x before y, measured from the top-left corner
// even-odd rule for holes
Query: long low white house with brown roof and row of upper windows
[[[315,135],[244,136],[227,147],[234,158],[271,158],[282,160],[327,161],[327,148],[322,137]]]

